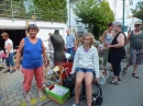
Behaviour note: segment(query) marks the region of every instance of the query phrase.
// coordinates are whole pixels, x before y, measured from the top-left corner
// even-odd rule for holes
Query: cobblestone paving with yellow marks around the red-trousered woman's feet
[[[3,71],[4,69],[0,71],[0,106],[42,106],[50,101],[46,96],[38,98],[35,81],[33,80],[30,92],[32,101],[26,102],[22,92],[23,75],[21,71],[12,74],[3,73]]]

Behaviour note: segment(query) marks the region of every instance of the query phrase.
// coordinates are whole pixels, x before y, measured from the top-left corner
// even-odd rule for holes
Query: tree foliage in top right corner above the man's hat
[[[142,20],[143,22],[143,1],[136,3],[135,9],[131,9],[133,16]]]

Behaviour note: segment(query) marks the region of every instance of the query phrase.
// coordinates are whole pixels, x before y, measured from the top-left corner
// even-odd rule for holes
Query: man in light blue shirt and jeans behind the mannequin
[[[67,36],[66,36],[66,49],[67,49],[67,52],[73,56],[73,58],[74,58],[75,50],[77,49],[76,37],[75,37],[75,35],[73,35],[70,33],[69,30],[67,30],[66,33],[67,33]]]

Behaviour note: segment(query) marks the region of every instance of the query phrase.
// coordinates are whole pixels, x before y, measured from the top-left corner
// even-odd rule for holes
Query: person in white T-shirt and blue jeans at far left
[[[2,33],[1,34],[2,38],[6,40],[4,42],[4,49],[6,49],[6,63],[7,63],[7,70],[3,73],[10,72],[13,73],[15,72],[15,66],[13,61],[13,42],[9,38],[8,33]],[[12,71],[10,71],[10,66],[12,67]]]

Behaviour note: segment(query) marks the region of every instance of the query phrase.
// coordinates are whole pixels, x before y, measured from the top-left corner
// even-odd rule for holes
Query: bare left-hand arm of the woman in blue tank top
[[[21,54],[23,50],[23,46],[24,46],[24,39],[21,40],[20,45],[19,45],[19,49],[16,51],[16,58],[15,58],[15,63],[20,63],[20,59],[21,59]]]

